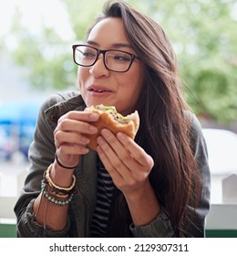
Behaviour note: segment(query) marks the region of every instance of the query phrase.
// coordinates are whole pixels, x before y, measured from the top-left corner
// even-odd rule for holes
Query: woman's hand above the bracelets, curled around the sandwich
[[[54,138],[57,158],[62,165],[75,166],[79,162],[78,156],[88,153],[87,134],[97,133],[97,127],[91,124],[97,120],[97,113],[77,111],[60,117]]]

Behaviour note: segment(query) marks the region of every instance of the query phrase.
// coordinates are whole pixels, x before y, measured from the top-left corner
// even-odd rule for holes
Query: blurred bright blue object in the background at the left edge
[[[15,101],[0,105],[0,158],[11,160],[15,153],[20,153],[27,159],[40,106],[40,101]]]

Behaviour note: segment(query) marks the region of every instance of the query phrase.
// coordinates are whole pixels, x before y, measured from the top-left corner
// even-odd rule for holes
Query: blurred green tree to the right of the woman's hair
[[[148,13],[170,37],[194,112],[237,120],[236,1],[150,0]]]

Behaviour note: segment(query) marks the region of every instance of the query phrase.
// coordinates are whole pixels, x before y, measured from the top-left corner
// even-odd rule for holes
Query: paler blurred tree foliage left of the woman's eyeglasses
[[[52,27],[43,27],[41,33],[34,34],[21,24],[21,19],[22,14],[16,9],[11,34],[17,47],[12,54],[15,63],[26,70],[29,83],[39,90],[72,86],[77,71],[70,56],[70,43]]]

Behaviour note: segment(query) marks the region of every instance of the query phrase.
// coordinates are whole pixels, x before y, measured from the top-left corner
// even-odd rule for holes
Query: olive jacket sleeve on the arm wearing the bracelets
[[[36,123],[36,132],[34,141],[29,148],[29,174],[26,176],[25,186],[15,204],[15,215],[17,219],[17,236],[18,237],[44,237],[65,236],[65,230],[62,232],[50,232],[38,225],[33,214],[33,202],[40,193],[40,183],[43,173],[54,162],[55,144],[53,129],[46,122],[46,110],[63,101],[62,97],[55,94],[42,104]],[[47,233],[46,233],[47,232]]]

